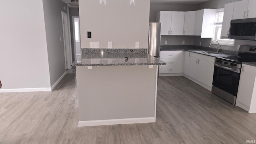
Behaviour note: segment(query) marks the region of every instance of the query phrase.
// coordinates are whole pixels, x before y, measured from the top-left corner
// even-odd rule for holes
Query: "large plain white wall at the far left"
[[[42,0],[7,0],[1,4],[2,89],[50,88]]]

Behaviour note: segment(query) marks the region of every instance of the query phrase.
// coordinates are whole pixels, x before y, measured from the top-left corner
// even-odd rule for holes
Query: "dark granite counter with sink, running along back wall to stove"
[[[212,57],[227,57],[227,56],[237,56],[238,52],[230,51],[230,50],[220,50],[218,54],[205,54],[200,51],[210,51],[210,52],[216,52],[216,48],[208,48],[203,46],[186,46],[186,45],[180,45],[180,46],[161,46],[161,51],[178,51],[178,50],[185,50],[189,52],[195,52],[198,54],[204,54],[206,56],[212,56]]]

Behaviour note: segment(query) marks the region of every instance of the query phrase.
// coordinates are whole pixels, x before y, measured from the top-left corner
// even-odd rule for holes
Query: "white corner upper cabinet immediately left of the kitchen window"
[[[196,11],[194,35],[201,38],[212,38],[215,24],[216,9]]]

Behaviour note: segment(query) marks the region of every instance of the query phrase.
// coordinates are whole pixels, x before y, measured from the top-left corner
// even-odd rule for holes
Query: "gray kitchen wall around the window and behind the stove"
[[[225,4],[231,3],[231,2],[237,2],[240,0],[210,0],[208,2],[203,2],[201,4],[198,4],[198,10],[203,9],[203,8],[224,8]],[[201,46],[206,46],[208,47],[210,44],[211,38],[200,38],[198,36],[195,37],[194,39],[194,45],[199,46],[199,42],[202,42]],[[252,45],[256,46],[255,41],[251,40],[235,40],[234,46],[221,46],[221,49],[224,50],[232,50],[232,51],[238,51],[237,47],[238,45]],[[217,48],[217,45],[212,45],[212,48]]]

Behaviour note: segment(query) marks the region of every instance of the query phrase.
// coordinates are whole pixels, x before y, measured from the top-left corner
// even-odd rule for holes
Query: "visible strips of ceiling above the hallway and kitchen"
[[[71,0],[62,0],[68,7],[78,7],[78,4],[74,4]],[[150,0],[152,3],[172,3],[172,4],[199,4],[209,0]]]

